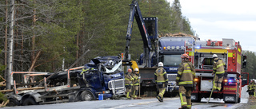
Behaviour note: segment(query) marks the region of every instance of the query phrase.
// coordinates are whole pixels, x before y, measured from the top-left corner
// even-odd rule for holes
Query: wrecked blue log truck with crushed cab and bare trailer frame
[[[116,99],[125,95],[120,56],[98,56],[84,66],[54,74],[13,72],[11,76],[18,74],[22,74],[22,79],[16,83],[17,77],[13,77],[14,89],[2,91],[13,106]]]

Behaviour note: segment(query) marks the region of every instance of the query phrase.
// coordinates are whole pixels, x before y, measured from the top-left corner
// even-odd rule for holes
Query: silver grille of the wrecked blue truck
[[[108,87],[112,90],[114,95],[122,95],[125,94],[125,80],[110,80],[108,83]]]

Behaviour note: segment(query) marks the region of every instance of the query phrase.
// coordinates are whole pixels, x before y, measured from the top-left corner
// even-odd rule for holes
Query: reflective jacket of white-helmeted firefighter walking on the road
[[[168,81],[166,70],[162,67],[158,68],[154,72],[154,80],[157,83],[165,83]]]

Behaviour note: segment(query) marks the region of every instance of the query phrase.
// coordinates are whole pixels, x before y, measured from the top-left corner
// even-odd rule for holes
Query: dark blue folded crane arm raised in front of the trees
[[[129,49],[130,39],[133,29],[134,18],[136,18],[138,29],[142,35],[143,48],[144,48],[144,59],[146,67],[152,67],[151,57],[156,53],[154,41],[157,40],[158,35],[158,18],[142,18],[141,10],[139,9],[138,2],[133,0],[130,4],[129,21],[126,32],[126,49],[123,62],[130,61]],[[149,34],[150,33],[150,34]]]

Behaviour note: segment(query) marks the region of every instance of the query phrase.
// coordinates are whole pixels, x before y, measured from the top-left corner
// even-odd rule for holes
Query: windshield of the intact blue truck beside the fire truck
[[[164,66],[178,66],[182,62],[181,55],[164,55],[163,56],[163,63]]]

